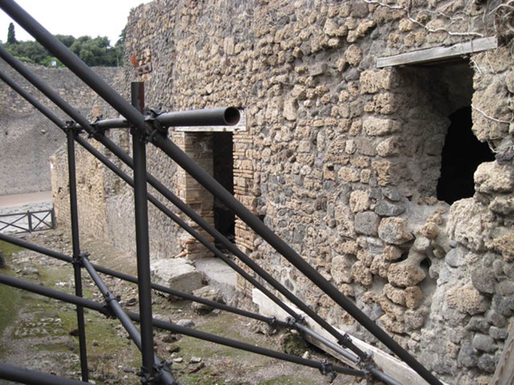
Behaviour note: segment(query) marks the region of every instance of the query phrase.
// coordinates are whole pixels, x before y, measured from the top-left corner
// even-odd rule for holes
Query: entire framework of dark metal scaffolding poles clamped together
[[[118,318],[125,330],[128,332],[132,340],[136,343],[141,351],[142,367],[139,375],[142,383],[151,384],[178,384],[171,373],[170,363],[161,360],[154,354],[153,328],[170,330],[174,333],[181,333],[195,338],[224,344],[236,349],[250,351],[256,354],[266,355],[281,360],[295,362],[297,364],[306,365],[311,368],[317,368],[322,374],[330,375],[331,379],[337,373],[350,374],[354,376],[372,375],[375,378],[391,385],[397,385],[399,382],[384,374],[374,363],[373,357],[368,353],[359,349],[352,341],[352,338],[346,333],[340,333],[320,317],[314,310],[306,305],[297,296],[291,293],[285,286],[268,274],[261,266],[250,259],[245,253],[238,249],[232,242],[219,233],[214,227],[201,218],[191,207],[182,202],[173,194],[166,186],[154,178],[146,169],[146,146],[152,144],[160,148],[164,153],[171,157],[180,167],[185,169],[193,178],[210,191],[215,197],[221,200],[235,215],[243,220],[256,234],[267,241],[278,253],[285,257],[293,266],[299,269],[307,278],[317,285],[324,293],[331,297],[344,311],[352,315],[365,329],[370,331],[379,341],[384,343],[394,354],[405,361],[414,371],[423,377],[431,385],[441,385],[441,382],[421,365],[412,355],[395,342],[386,332],[379,328],[368,316],[366,316],[358,307],[330,282],[328,282],[315,268],[310,266],[300,255],[298,255],[289,245],[287,245],[279,236],[274,234],[258,217],[254,216],[243,204],[238,202],[230,192],[223,188],[214,178],[203,170],[198,164],[191,160],[182,150],[180,150],[169,138],[168,127],[170,125],[229,125],[237,123],[239,113],[236,108],[226,107],[217,109],[167,112],[164,114],[152,113],[142,114],[144,107],[144,86],[142,83],[132,83],[132,105],[127,103],[117,92],[109,87],[99,76],[88,68],[78,57],[72,54],[62,43],[36,22],[28,13],[12,0],[0,0],[0,8],[9,14],[14,21],[26,29],[34,38],[56,56],[64,65],[72,72],[79,76],[91,89],[96,91],[101,98],[114,107],[124,118],[106,121],[88,122],[83,115],[71,107],[64,101],[60,95],[52,90],[47,84],[39,79],[34,73],[28,70],[23,64],[14,59],[3,47],[0,47],[0,57],[6,61],[17,72],[22,74],[32,85],[40,90],[46,97],[64,111],[72,121],[68,123],[62,122],[48,108],[43,106],[39,101],[35,100],[22,87],[13,82],[8,76],[0,72],[0,79],[7,83],[16,92],[22,95],[36,109],[41,111],[48,119],[50,119],[58,128],[64,131],[67,137],[67,155],[68,155],[68,174],[69,174],[69,194],[70,194],[70,217],[71,217],[71,235],[73,243],[73,253],[66,256],[61,253],[51,251],[49,249],[34,245],[20,239],[0,234],[0,239],[29,248],[38,253],[57,258],[69,262],[74,267],[75,273],[75,295],[62,293],[50,288],[42,287],[31,282],[22,281],[20,279],[0,275],[0,283],[19,287],[34,293],[38,293],[61,301],[75,304],[77,306],[77,323],[79,329],[79,350],[82,381],[88,380],[87,354],[85,341],[85,326],[83,309],[93,309],[98,312]],[[103,123],[102,123],[103,122]],[[105,129],[108,128],[128,128],[131,131],[133,139],[133,157],[131,158],[118,147],[114,142],[105,136]],[[91,146],[87,140],[82,138],[82,133],[87,133],[89,137],[94,138],[110,150],[128,167],[133,169],[133,178],[125,174],[114,163],[106,159],[102,154]],[[135,206],[135,224],[136,224],[136,249],[137,249],[137,277],[127,276],[125,274],[97,266],[89,262],[88,254],[80,249],[79,240],[79,221],[77,207],[77,181],[75,175],[75,142],[82,145],[87,151],[99,159],[107,168],[111,169],[122,178],[127,184],[134,188],[134,206]],[[323,329],[331,334],[337,341],[337,344],[320,336],[318,333],[306,328],[304,318],[301,314],[293,311],[287,304],[273,294],[268,288],[246,273],[242,267],[233,262],[224,253],[219,251],[214,244],[202,237],[194,228],[189,226],[185,221],[177,217],[172,210],[161,203],[153,195],[149,194],[147,184],[153,186],[167,201],[178,207],[183,213],[196,222],[201,228],[211,235],[216,242],[223,244],[231,253],[234,254],[242,263],[246,264],[253,272],[261,277],[267,284],[274,288],[278,293],[295,304],[298,309],[315,320]],[[201,244],[205,245],[216,257],[226,262],[237,273],[241,274],[252,285],[259,288],[270,300],[277,303],[285,310],[289,317],[285,320],[277,320],[272,317],[265,317],[260,314],[254,314],[240,309],[235,309],[228,305],[218,304],[213,301],[197,298],[195,296],[180,293],[163,286],[156,285],[150,281],[150,253],[149,253],[149,229],[148,229],[148,201],[154,204],[162,211],[164,215],[191,234]],[[85,268],[87,273],[93,279],[99,290],[104,296],[104,302],[96,302],[82,298],[82,279],[81,271]],[[118,303],[117,297],[108,290],[98,273],[111,275],[129,282],[138,284],[139,296],[139,314],[128,312],[122,309]],[[341,365],[330,364],[326,361],[315,361],[291,356],[285,353],[255,347],[241,341],[235,341],[229,338],[220,337],[193,329],[183,328],[171,322],[159,321],[152,316],[151,290],[159,290],[164,293],[176,295],[178,297],[187,298],[200,303],[208,303],[218,309],[223,309],[235,314],[244,315],[253,319],[267,322],[270,325],[280,328],[295,329],[303,334],[307,334],[319,342],[325,344],[328,348],[337,353],[342,354],[347,360],[353,363],[354,368],[343,367]],[[140,330],[136,328],[133,322],[140,323]],[[11,367],[11,365],[0,364],[0,378],[22,381],[26,383],[54,383],[54,384],[74,384],[76,380],[70,380],[64,377],[52,376],[52,382],[44,382],[47,377],[44,374],[31,370]],[[34,379],[38,379],[36,381]]]

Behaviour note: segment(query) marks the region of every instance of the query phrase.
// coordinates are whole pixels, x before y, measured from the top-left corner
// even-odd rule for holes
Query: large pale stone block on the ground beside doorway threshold
[[[159,259],[151,262],[152,282],[191,293],[203,286],[203,275],[185,258]]]

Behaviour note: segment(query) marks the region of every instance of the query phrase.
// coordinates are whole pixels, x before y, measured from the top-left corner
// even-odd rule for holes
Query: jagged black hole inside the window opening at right
[[[437,182],[437,199],[449,204],[472,197],[473,174],[479,164],[494,160],[487,143],[482,143],[471,130],[471,107],[463,107],[450,115]]]

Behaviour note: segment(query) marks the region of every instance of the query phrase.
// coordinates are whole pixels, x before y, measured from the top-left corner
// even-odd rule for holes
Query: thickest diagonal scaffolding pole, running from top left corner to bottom
[[[146,127],[143,115],[139,113],[137,109],[126,103],[114,89],[105,83],[93,70],[87,67],[77,56],[69,51],[56,37],[51,35],[19,5],[12,0],[0,0],[0,7],[40,44],[58,57],[58,59],[79,76],[84,83],[96,91],[102,99],[120,112],[131,124],[140,130],[146,130],[148,128]],[[149,134],[152,133],[154,132],[149,132]],[[328,282],[316,269],[310,266],[287,243],[274,234],[259,218],[255,217],[249,209],[238,202],[230,192],[210,176],[207,171],[190,159],[178,146],[158,132],[153,136],[152,143],[167,153],[180,167],[185,169],[193,178],[210,191],[211,194],[221,200],[234,214],[240,217],[293,266],[297,267],[311,282],[316,284],[324,293],[340,305],[342,309],[348,312],[379,341],[405,361],[421,377],[431,385],[442,385],[430,371],[384,332],[372,319],[366,316],[350,299],[340,293],[336,287]]]

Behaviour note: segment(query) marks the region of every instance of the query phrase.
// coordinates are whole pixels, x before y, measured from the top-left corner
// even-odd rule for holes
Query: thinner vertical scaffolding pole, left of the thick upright
[[[79,241],[79,213],[77,208],[77,178],[75,175],[75,133],[72,128],[66,131],[68,139],[68,178],[69,178],[69,206],[71,216],[71,240],[73,243],[73,269],[75,275],[75,295],[82,297],[81,253]],[[88,382],[86,331],[84,325],[84,308],[77,305],[77,324],[79,330],[80,369],[82,381]]]

